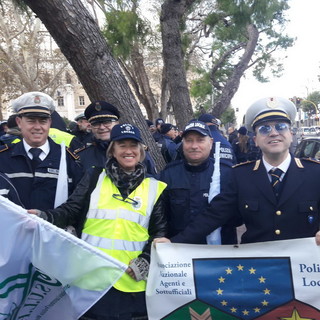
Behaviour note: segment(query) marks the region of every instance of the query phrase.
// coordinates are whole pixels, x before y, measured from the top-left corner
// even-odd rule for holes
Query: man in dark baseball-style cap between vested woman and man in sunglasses
[[[231,166],[220,163],[218,154],[217,161],[210,157],[212,146],[209,127],[202,121],[190,121],[182,133],[183,159],[171,162],[160,173],[160,180],[167,184],[164,206],[169,237],[181,232],[226,186]],[[211,197],[212,192],[215,194]],[[237,243],[233,226],[217,230],[216,236],[215,244]],[[205,236],[201,243],[207,243]]]

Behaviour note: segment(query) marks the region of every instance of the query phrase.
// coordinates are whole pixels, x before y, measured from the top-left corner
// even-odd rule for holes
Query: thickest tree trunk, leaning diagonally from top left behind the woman
[[[121,122],[141,128],[158,168],[164,161],[149,133],[130,87],[94,18],[81,0],[24,0],[41,19],[78,75],[89,98],[106,100],[121,112]]]

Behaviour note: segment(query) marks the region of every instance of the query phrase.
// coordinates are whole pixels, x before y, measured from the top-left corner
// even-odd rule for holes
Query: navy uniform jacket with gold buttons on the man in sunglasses
[[[243,243],[314,237],[319,230],[319,177],[320,163],[292,158],[277,200],[262,161],[238,165],[227,191],[171,241],[200,243],[204,234],[235,216],[247,228]]]

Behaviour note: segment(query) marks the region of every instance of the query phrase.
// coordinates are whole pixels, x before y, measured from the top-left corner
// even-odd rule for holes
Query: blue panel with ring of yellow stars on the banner
[[[197,298],[239,319],[294,299],[290,258],[194,259]]]

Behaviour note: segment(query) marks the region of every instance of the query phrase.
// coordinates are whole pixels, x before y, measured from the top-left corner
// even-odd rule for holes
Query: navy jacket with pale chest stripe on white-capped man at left
[[[56,194],[61,157],[61,146],[48,138],[50,152],[38,165],[33,174],[31,160],[23,142],[0,149],[0,171],[3,172],[16,188],[21,202],[26,209],[52,209]],[[68,150],[68,149],[67,149]],[[75,189],[83,175],[76,157],[66,152],[68,172],[68,192]]]

